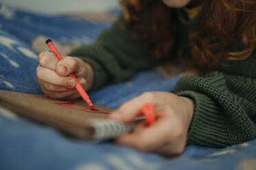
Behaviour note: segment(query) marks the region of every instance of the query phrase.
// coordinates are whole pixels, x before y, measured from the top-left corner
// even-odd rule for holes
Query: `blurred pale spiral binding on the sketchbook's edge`
[[[93,127],[94,130],[92,138],[95,141],[102,141],[132,132],[135,125],[142,119],[144,119],[144,117],[139,117],[132,123],[122,123],[110,119],[91,119],[91,127]]]

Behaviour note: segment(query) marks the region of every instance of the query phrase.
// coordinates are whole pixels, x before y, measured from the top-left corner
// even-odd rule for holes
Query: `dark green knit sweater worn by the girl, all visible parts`
[[[189,31],[198,23],[178,10],[178,44],[187,44]],[[150,62],[148,44],[135,38],[120,17],[91,45],[73,51],[95,71],[93,88],[121,82]],[[233,61],[204,77],[182,77],[174,93],[195,101],[189,144],[226,147],[253,139],[256,131],[256,52],[243,61]]]

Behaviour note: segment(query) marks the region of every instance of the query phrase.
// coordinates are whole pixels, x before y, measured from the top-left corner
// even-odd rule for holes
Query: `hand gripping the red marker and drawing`
[[[93,84],[93,69],[80,58],[64,57],[58,60],[54,53],[44,53],[36,69],[38,83],[45,95],[54,99],[77,99],[74,73],[78,82],[88,90]]]

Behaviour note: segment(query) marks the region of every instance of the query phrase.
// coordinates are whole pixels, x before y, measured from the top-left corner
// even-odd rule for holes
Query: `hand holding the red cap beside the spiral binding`
[[[132,133],[119,136],[117,143],[165,156],[181,154],[187,143],[194,101],[172,93],[148,92],[121,105],[110,114],[110,118],[132,121],[141,114],[141,106],[146,102],[154,104],[156,121],[150,126],[145,122],[139,123]]]

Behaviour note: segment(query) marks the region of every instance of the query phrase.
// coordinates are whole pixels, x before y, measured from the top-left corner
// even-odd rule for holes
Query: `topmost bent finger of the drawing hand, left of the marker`
[[[47,69],[55,70],[56,64],[58,63],[58,58],[55,53],[45,52],[39,60],[40,66]]]

